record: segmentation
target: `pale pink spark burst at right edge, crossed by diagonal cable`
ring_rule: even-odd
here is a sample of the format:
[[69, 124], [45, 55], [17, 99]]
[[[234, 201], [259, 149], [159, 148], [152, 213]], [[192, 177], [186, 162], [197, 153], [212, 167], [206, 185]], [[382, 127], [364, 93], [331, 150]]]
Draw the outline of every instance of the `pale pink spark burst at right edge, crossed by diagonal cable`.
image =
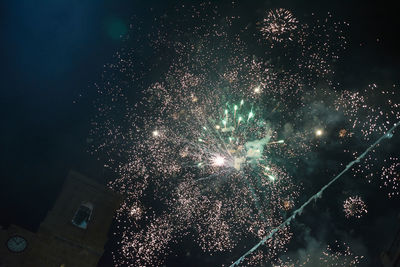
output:
[[[393, 88], [395, 87], [393, 85]], [[377, 101], [377, 99], [381, 101]], [[393, 122], [400, 119], [400, 105], [396, 102], [397, 99], [396, 91], [382, 90], [376, 84], [371, 84], [358, 92], [344, 91], [340, 93], [339, 98], [335, 100], [335, 106], [338, 111], [346, 115], [352, 131], [361, 133], [358, 138], [370, 141], [371, 137], [384, 133]], [[363, 120], [360, 120], [360, 117]], [[354, 132], [347, 136], [352, 137]], [[343, 137], [346, 136], [344, 132], [342, 133]], [[340, 133], [339, 136], [342, 137]], [[358, 154], [351, 147], [348, 147], [345, 152], [354, 157]], [[369, 183], [380, 178], [378, 180], [381, 182], [380, 188], [390, 191], [388, 192], [389, 198], [398, 195], [400, 192], [397, 186], [397, 158], [390, 157], [382, 162], [376, 154], [376, 150], [372, 152], [365, 157], [362, 164], [352, 169], [354, 176], [364, 177]]]

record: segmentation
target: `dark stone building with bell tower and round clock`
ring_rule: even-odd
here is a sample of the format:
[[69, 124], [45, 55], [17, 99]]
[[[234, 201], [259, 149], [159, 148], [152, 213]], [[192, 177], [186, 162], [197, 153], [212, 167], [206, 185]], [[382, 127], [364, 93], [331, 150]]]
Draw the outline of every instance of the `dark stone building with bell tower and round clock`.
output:
[[15, 225], [0, 230], [0, 266], [96, 266], [120, 202], [120, 195], [71, 171], [36, 233]]

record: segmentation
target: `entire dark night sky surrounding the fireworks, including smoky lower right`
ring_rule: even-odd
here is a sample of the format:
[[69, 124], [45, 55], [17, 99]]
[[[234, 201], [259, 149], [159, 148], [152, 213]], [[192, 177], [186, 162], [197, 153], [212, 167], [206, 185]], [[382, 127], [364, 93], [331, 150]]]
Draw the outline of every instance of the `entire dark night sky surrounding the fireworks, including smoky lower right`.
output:
[[[335, 81], [344, 88], [365, 88], [371, 83], [382, 87], [399, 85], [400, 22], [394, 4], [383, 1], [237, 2], [241, 16], [249, 20], [254, 14], [259, 16], [263, 10], [276, 7], [302, 15], [330, 11], [335, 19], [350, 23], [348, 49], [338, 60]], [[177, 3], [182, 1], [0, 3], [1, 225], [17, 224], [36, 230], [70, 169], [100, 182], [110, 179], [112, 175], [103, 168], [103, 162], [88, 153], [91, 121], [97, 112], [93, 104], [98, 97], [94, 84], [101, 84], [104, 65], [112, 62], [119, 49], [135, 45], [124, 41], [132, 20], [140, 21], [141, 32], [146, 33], [154, 17], [174, 9]], [[146, 49], [142, 53], [146, 54]], [[142, 88], [130, 87], [130, 101], [138, 102]], [[391, 156], [400, 156], [398, 133], [388, 143], [383, 150]], [[335, 164], [341, 154], [327, 151], [323, 153], [326, 165], [312, 171], [313, 181], [317, 181], [309, 187], [312, 192], [331, 177], [323, 177], [324, 174], [342, 169]], [[379, 153], [387, 157], [384, 152]], [[325, 167], [329, 171], [322, 169]], [[335, 240], [335, 235], [356, 254], [366, 257], [360, 266], [379, 266], [379, 254], [390, 244], [399, 224], [400, 201], [399, 197], [388, 200], [386, 192], [377, 188], [351, 181], [333, 186], [299, 217], [294, 226], [297, 236], [289, 244], [287, 255], [296, 258], [301, 250], [316, 251], [321, 244]], [[356, 190], [369, 204], [368, 216], [361, 223], [337, 218], [343, 217], [337, 211], [344, 200], [339, 197], [340, 192], [346, 190]], [[193, 250], [187, 256], [191, 247]], [[99, 266], [113, 266], [113, 249], [113, 244], [107, 245]], [[167, 266], [215, 263], [215, 258], [202, 254], [189, 242], [174, 248], [171, 255]], [[217, 256], [217, 265], [230, 263], [240, 255], [235, 251], [228, 258]]]

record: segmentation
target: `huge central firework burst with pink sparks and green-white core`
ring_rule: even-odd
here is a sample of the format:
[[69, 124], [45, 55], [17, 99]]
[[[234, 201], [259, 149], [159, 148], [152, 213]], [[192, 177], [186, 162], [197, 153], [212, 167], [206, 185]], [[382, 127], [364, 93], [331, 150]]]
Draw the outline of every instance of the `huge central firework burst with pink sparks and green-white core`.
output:
[[[318, 110], [357, 125], [352, 109], [363, 108], [362, 96], [332, 100], [339, 93], [330, 74], [346, 43], [345, 24], [306, 25], [288, 10], [269, 11], [258, 42], [266, 52], [257, 54], [243, 29], [231, 28], [240, 18], [208, 5], [158, 18], [146, 35], [153, 65], [141, 61], [139, 42], [139, 52], [117, 53], [97, 85], [92, 153], [105, 158], [117, 176], [110, 187], [126, 196], [117, 215], [116, 265], [161, 265], [171, 244], [187, 236], [213, 254], [274, 235], [249, 264], [276, 258], [292, 238], [281, 225], [302, 192], [289, 170], [329, 134]], [[276, 55], [265, 38], [296, 49]], [[143, 88], [138, 103], [129, 97], [132, 84]]]

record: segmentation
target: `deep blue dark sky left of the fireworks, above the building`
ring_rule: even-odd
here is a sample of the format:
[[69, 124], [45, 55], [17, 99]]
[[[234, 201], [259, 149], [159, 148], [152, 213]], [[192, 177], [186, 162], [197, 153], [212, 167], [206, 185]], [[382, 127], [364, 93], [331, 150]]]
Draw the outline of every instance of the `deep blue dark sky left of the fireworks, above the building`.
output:
[[93, 83], [120, 46], [115, 31], [147, 12], [130, 2], [2, 4], [2, 222], [35, 227], [69, 169], [101, 174], [86, 154]]

